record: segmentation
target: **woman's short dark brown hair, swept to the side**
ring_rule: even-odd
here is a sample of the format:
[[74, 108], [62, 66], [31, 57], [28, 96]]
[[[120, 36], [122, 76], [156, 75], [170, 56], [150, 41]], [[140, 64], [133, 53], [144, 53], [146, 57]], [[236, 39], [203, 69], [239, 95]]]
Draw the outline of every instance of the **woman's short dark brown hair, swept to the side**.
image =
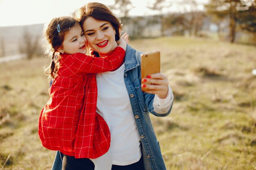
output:
[[99, 21], [110, 22], [116, 31], [115, 40], [117, 41], [120, 39], [119, 31], [122, 30], [121, 21], [115, 16], [114, 13], [110, 11], [106, 5], [99, 2], [90, 2], [74, 12], [74, 18], [78, 20], [81, 25], [83, 25], [83, 22], [88, 17], [92, 17]]

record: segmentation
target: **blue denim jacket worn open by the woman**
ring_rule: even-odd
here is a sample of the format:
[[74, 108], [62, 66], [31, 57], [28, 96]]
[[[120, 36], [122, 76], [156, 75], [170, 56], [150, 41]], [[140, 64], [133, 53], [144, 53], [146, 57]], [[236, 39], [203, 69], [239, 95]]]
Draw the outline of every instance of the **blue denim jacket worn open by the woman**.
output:
[[[167, 113], [156, 113], [153, 108], [153, 99], [155, 95], [141, 91], [141, 53], [142, 52], [136, 51], [131, 46], [127, 45], [124, 61], [124, 82], [130, 96], [132, 112], [141, 140], [141, 152], [144, 159], [145, 170], [166, 170], [155, 131], [153, 130], [150, 121], [149, 113], [158, 117], [164, 117], [171, 112], [172, 107]], [[61, 170], [61, 159], [58, 152], [52, 170]]]

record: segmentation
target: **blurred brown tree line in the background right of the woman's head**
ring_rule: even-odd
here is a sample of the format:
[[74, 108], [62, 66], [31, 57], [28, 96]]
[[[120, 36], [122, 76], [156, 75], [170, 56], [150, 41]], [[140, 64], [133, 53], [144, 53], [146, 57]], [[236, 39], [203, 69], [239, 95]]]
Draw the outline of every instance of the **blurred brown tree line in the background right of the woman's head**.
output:
[[[163, 12], [174, 3], [180, 7], [180, 12]], [[199, 8], [200, 5], [202, 4], [197, 0], [154, 0], [148, 9], [157, 11], [158, 14], [150, 17], [129, 17], [129, 11], [133, 8], [130, 0], [115, 0], [115, 5], [110, 8], [119, 11], [125, 26], [132, 25], [131, 38], [143, 38], [146, 28], [154, 25], [160, 26], [159, 36], [207, 36], [200, 31], [208, 20], [216, 24], [219, 33], [223, 31], [221, 24], [228, 23], [227, 36], [231, 43], [235, 41], [238, 32], [252, 33], [256, 42], [256, 0], [209, 0], [204, 4], [203, 11]], [[148, 30], [147, 37], [150, 37], [150, 31], [152, 32]]]

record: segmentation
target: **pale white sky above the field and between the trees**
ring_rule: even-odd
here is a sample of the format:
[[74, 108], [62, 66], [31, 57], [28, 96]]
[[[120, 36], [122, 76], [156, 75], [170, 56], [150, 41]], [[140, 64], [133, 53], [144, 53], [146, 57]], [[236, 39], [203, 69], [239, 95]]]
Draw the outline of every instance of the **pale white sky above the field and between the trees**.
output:
[[[157, 13], [147, 8], [154, 0], [130, 1], [134, 6], [130, 15]], [[115, 0], [0, 0], [0, 26], [47, 23], [54, 17], [70, 15], [88, 2], [101, 2], [108, 6], [113, 5]], [[178, 9], [174, 5], [171, 8], [165, 9], [165, 12]], [[118, 16], [117, 13], [115, 14]]]

